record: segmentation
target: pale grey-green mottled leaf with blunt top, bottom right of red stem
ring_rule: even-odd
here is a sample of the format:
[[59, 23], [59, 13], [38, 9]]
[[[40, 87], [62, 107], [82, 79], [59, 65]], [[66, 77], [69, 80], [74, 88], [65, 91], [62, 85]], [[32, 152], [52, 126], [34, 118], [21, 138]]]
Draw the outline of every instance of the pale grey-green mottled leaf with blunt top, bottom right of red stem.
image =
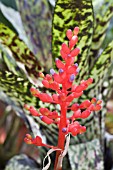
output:
[[79, 143], [76, 146], [70, 145], [68, 154], [71, 170], [88, 170], [89, 167], [92, 170], [103, 170], [103, 155], [98, 139], [87, 141], [87, 143]]

